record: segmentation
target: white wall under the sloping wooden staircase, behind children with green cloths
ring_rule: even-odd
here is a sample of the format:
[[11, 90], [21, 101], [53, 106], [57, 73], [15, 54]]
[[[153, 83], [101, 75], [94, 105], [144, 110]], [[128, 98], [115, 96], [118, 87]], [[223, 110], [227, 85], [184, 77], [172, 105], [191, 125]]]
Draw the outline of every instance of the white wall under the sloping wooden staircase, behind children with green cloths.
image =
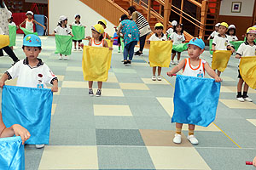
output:
[[[75, 14], [80, 14], [80, 21], [86, 26], [85, 36], [91, 35], [90, 27], [96, 25], [98, 20], [105, 19], [79, 0], [49, 0], [49, 34], [53, 33], [61, 15], [67, 16], [69, 25], [73, 23]], [[108, 20], [105, 31], [113, 37], [113, 24]]]

